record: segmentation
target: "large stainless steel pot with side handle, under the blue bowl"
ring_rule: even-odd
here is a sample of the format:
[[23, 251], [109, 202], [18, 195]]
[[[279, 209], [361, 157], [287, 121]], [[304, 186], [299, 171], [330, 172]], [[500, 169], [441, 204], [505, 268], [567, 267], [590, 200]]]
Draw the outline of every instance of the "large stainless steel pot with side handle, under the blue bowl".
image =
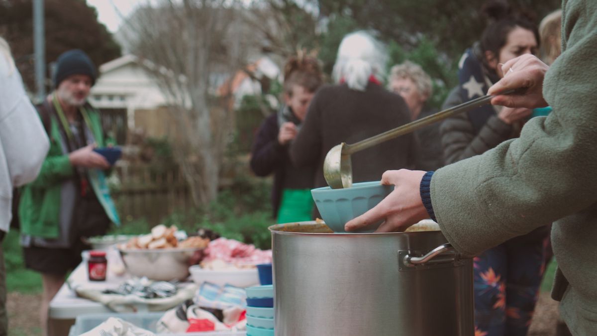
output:
[[277, 336], [474, 335], [472, 259], [441, 231], [269, 229]]

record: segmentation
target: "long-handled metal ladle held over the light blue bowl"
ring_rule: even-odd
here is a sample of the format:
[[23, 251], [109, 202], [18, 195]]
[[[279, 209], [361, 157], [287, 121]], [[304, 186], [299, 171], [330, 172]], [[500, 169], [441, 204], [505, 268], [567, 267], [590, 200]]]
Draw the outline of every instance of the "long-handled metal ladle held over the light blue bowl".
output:
[[[500, 94], [510, 94], [513, 92], [514, 90], [509, 90]], [[445, 109], [444, 111], [437, 112], [436, 114], [429, 115], [376, 136], [372, 136], [371, 138], [353, 143], [352, 145], [348, 145], [343, 142], [340, 143], [340, 145], [333, 146], [332, 149], [328, 151], [328, 154], [325, 155], [325, 181], [328, 182], [328, 185], [330, 185], [332, 189], [350, 188], [352, 186], [352, 163], [350, 161], [351, 154], [378, 145], [382, 142], [386, 142], [387, 140], [398, 138], [401, 135], [411, 133], [429, 124], [433, 124], [436, 121], [444, 120], [452, 115], [478, 108], [479, 106], [489, 103], [493, 97], [494, 96], [487, 95], [470, 100], [469, 102], [454, 106], [453, 108]]]

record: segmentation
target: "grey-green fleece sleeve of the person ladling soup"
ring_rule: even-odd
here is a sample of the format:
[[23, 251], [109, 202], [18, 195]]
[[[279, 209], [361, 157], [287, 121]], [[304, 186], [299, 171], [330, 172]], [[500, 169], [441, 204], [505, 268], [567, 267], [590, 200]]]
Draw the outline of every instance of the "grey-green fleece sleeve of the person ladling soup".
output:
[[433, 210], [458, 251], [475, 255], [597, 202], [597, 14], [594, 3], [583, 10], [589, 3], [565, 16], [568, 48], [544, 78], [552, 113], [433, 175]]

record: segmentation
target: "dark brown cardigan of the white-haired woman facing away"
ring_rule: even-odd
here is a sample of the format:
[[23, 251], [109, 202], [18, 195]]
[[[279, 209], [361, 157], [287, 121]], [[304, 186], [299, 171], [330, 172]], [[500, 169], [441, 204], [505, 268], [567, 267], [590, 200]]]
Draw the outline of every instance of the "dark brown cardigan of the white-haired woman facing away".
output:
[[[402, 97], [380, 85], [369, 83], [364, 92], [351, 90], [346, 84], [325, 85], [313, 97], [290, 156], [297, 166], [316, 164], [315, 187], [324, 187], [322, 167], [333, 146], [355, 143], [409, 121]], [[412, 168], [416, 152], [417, 141], [411, 134], [355, 153], [353, 182], [379, 181], [386, 170]]]

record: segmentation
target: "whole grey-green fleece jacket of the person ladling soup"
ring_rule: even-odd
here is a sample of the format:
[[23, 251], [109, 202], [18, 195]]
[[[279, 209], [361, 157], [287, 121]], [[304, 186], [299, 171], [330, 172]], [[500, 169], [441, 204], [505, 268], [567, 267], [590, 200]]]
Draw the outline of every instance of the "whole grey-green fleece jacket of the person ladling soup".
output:
[[430, 191], [448, 241], [475, 255], [554, 222], [552, 295], [574, 335], [597, 332], [597, 1], [564, 0], [562, 54], [543, 83], [553, 111], [520, 138], [439, 169]]

